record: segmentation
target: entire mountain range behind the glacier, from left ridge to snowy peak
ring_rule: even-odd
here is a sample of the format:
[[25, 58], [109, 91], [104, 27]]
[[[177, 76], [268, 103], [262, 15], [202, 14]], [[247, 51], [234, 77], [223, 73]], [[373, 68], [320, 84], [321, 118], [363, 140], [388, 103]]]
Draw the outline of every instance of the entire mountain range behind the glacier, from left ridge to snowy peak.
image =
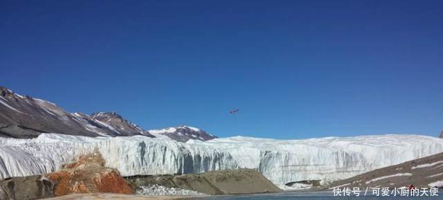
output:
[[0, 137], [35, 138], [42, 133], [74, 136], [168, 136], [174, 140], [211, 140], [217, 138], [188, 126], [144, 130], [116, 112], [69, 113], [56, 104], [21, 96], [0, 87]]

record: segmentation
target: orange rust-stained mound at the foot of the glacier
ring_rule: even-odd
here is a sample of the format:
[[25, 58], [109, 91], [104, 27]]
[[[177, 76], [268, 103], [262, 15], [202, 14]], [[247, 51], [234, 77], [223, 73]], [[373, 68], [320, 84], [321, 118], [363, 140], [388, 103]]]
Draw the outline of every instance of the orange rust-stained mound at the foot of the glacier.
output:
[[105, 167], [105, 160], [98, 153], [80, 156], [77, 162], [64, 165], [62, 170], [46, 177], [56, 182], [55, 196], [91, 192], [134, 194], [118, 170]]

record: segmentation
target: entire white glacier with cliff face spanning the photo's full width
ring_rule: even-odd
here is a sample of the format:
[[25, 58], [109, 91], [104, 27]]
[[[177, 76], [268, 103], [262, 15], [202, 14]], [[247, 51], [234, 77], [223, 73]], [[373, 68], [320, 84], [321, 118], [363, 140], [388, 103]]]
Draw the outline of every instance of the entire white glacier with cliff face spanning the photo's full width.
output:
[[188, 140], [166, 136], [96, 137], [42, 134], [0, 138], [0, 178], [60, 169], [80, 154], [98, 151], [123, 176], [186, 174], [239, 167], [257, 169], [276, 185], [332, 181], [443, 152], [443, 140], [379, 135], [273, 140], [232, 137]]

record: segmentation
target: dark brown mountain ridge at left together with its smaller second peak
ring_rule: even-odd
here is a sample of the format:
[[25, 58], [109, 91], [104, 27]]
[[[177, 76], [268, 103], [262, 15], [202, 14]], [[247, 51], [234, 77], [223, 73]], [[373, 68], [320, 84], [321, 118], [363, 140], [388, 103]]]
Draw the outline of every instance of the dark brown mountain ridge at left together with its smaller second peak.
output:
[[52, 102], [21, 96], [0, 87], [0, 136], [3, 137], [34, 138], [41, 133], [80, 136], [144, 134], [121, 116], [120, 119], [120, 123], [105, 123], [84, 113], [69, 113]]

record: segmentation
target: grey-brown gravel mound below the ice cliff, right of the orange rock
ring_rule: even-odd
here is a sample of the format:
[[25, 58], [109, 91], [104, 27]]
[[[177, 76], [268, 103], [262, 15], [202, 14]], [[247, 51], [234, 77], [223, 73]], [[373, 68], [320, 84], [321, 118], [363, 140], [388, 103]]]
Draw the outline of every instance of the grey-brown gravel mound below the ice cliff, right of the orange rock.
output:
[[135, 186], [162, 185], [204, 194], [252, 194], [281, 192], [280, 188], [255, 170], [219, 170], [202, 174], [132, 176], [127, 180]]

